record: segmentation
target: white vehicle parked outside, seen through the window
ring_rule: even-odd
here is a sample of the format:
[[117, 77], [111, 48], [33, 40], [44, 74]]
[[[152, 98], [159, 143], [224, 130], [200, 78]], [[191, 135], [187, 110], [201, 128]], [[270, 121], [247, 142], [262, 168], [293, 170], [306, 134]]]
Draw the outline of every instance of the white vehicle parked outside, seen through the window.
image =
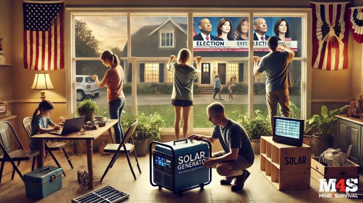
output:
[[96, 82], [93, 80], [92, 76], [85, 75], [76, 75], [76, 83], [77, 83], [77, 101], [84, 100], [87, 96], [98, 97], [99, 88]]

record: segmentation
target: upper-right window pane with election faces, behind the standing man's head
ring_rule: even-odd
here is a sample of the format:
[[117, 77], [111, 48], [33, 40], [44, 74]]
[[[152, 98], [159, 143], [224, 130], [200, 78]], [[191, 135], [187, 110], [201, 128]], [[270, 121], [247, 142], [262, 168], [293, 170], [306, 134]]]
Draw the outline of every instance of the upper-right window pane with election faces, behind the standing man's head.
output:
[[285, 43], [295, 51], [295, 57], [301, 57], [301, 18], [255, 17], [254, 26], [254, 55], [264, 56], [269, 53], [267, 39], [277, 36], [279, 43]]

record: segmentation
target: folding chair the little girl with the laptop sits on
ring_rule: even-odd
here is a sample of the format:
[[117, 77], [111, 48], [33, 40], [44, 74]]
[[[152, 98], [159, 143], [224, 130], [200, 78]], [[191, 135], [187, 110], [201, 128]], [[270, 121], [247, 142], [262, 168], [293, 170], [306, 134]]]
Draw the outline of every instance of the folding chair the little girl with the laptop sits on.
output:
[[[23, 127], [25, 129], [25, 132], [28, 134], [29, 140], [31, 138], [31, 131], [32, 131], [31, 121], [32, 121], [31, 117], [26, 117], [23, 119]], [[71, 159], [68, 157], [68, 154], [65, 150], [65, 146], [66, 146], [66, 143], [64, 143], [64, 142], [45, 142], [44, 147], [45, 147], [46, 154], [45, 154], [44, 160], [45, 160], [47, 154], [49, 154], [52, 157], [52, 159], [54, 160], [55, 164], [59, 168], [62, 168], [61, 164], [59, 164], [58, 160], [56, 160], [53, 153], [51, 152], [51, 151], [61, 150], [63, 152], [63, 154], [66, 156], [66, 159], [67, 159], [66, 161], [68, 161], [69, 165], [73, 169]], [[63, 170], [63, 175], [66, 176], [66, 173], [64, 172], [64, 170]]]

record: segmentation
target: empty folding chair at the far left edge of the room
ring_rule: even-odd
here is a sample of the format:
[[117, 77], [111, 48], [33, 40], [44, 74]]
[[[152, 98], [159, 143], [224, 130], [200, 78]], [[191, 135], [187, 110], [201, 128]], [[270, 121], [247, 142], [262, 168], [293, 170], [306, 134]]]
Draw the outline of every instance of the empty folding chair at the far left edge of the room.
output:
[[[19, 149], [12, 149], [11, 148], [11, 140], [10, 140], [10, 134], [14, 134], [15, 140], [19, 146]], [[22, 143], [19, 140], [18, 135], [16, 134], [13, 126], [8, 121], [1, 121], [0, 122], [0, 148], [3, 151], [3, 155], [0, 156], [1, 161], [1, 167], [0, 167], [0, 183], [1, 179], [3, 177], [3, 170], [4, 170], [4, 164], [5, 162], [11, 162], [13, 165], [13, 169], [6, 173], [5, 175], [13, 172], [12, 174], [12, 180], [14, 179], [15, 171], [19, 174], [21, 179], [23, 180], [23, 175], [21, 174], [20, 170], [18, 169], [17, 165], [15, 164], [16, 161], [18, 161], [18, 166], [20, 165], [21, 161], [27, 161], [33, 158], [32, 163], [32, 170], [34, 170], [35, 160], [36, 156], [39, 155], [39, 151], [37, 150], [24, 150], [24, 147]], [[26, 167], [27, 169], [29, 167]], [[23, 169], [23, 170], [25, 170]]]

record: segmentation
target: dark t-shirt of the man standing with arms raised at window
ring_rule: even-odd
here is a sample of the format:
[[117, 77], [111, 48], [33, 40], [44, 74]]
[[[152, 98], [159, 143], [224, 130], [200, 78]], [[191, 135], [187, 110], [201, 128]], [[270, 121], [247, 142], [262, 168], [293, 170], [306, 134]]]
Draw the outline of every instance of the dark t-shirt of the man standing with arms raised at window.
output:
[[266, 92], [291, 87], [287, 64], [292, 60], [292, 53], [276, 51], [262, 57], [257, 71], [266, 71]]

